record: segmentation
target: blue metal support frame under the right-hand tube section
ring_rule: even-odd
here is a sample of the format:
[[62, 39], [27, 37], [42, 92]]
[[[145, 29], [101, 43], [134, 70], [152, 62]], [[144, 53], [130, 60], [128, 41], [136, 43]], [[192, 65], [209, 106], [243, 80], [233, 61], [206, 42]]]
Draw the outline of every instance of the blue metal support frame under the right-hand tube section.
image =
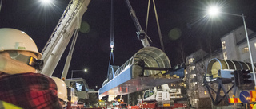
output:
[[[214, 103], [214, 105], [218, 105], [219, 103], [222, 102], [222, 100], [224, 100], [227, 104], [231, 104], [229, 103], [229, 95], [228, 93], [232, 90], [232, 88], [234, 88], [235, 84], [232, 85], [232, 87], [228, 90], [226, 90], [226, 88], [224, 87], [222, 80], [220, 78], [217, 78], [214, 81], [210, 81], [207, 82], [206, 78], [204, 78], [203, 80], [204, 85], [206, 86], [206, 89], [210, 95], [210, 99], [212, 100], [212, 102]], [[211, 88], [210, 85], [208, 83], [218, 83], [218, 89], [217, 91], [214, 90], [214, 88]], [[235, 95], [235, 90], [236, 88], [234, 88], [234, 95]], [[221, 90], [224, 92], [224, 95], [220, 95]], [[212, 92], [214, 92], [216, 94], [216, 96], [212, 95]]]

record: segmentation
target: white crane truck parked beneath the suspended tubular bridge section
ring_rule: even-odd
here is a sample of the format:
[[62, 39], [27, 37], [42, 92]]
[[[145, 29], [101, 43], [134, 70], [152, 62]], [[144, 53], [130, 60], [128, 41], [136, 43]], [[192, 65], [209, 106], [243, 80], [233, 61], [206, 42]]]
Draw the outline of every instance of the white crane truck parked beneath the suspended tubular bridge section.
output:
[[[178, 64], [177, 66], [174, 67], [172, 71], [166, 73], [175, 78], [183, 78], [185, 64]], [[170, 88], [169, 84], [162, 84], [159, 87], [154, 87], [143, 91], [142, 99], [138, 99], [138, 104], [136, 106], [130, 106], [129, 108], [185, 109], [186, 103], [176, 103], [175, 101], [175, 99], [182, 98], [182, 88]]]

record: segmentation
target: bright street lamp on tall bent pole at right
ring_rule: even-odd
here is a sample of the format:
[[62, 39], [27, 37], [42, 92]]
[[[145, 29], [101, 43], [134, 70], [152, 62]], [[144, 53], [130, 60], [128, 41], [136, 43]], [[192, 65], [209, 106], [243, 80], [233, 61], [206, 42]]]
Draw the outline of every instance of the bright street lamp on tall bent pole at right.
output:
[[245, 27], [245, 32], [246, 32], [246, 40], [247, 40], [247, 45], [248, 45], [248, 49], [249, 49], [249, 55], [250, 55], [250, 64], [251, 64], [251, 68], [253, 69], [253, 75], [254, 75], [254, 84], [255, 84], [255, 90], [256, 90], [256, 80], [255, 80], [255, 72], [254, 72], [254, 61], [253, 61], [253, 57], [251, 55], [251, 51], [250, 51], [250, 42], [249, 42], [249, 37], [248, 37], [248, 33], [247, 33], [247, 28], [246, 28], [246, 20], [245, 20], [245, 16], [239, 15], [239, 14], [230, 14], [230, 13], [225, 13], [225, 12], [219, 12], [218, 7], [210, 7], [208, 9], [208, 14], [210, 16], [212, 15], [217, 15], [217, 14], [228, 14], [228, 15], [233, 15], [233, 16], [237, 16], [237, 17], [242, 17], [242, 21], [243, 21], [243, 25]]

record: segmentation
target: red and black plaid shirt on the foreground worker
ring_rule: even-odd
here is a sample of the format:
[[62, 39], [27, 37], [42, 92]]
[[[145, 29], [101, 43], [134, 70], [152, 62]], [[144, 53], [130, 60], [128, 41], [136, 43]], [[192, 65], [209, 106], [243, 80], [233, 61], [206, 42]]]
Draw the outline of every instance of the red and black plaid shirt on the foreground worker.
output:
[[39, 73], [0, 77], [0, 100], [25, 109], [62, 109], [54, 80]]

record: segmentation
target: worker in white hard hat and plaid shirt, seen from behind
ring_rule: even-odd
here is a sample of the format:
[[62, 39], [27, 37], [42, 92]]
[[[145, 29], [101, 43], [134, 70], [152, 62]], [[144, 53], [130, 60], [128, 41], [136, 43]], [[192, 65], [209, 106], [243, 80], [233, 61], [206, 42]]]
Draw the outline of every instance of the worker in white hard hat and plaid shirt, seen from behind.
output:
[[34, 41], [18, 29], [0, 29], [0, 101], [25, 109], [62, 109], [57, 86], [42, 68]]

